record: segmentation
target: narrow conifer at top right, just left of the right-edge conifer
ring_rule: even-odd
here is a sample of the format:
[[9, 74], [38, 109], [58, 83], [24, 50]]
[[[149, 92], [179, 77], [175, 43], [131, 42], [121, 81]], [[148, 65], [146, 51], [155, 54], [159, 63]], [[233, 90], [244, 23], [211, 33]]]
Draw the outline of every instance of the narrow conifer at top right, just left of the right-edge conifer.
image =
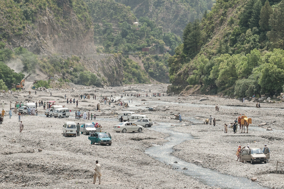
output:
[[271, 14], [272, 14], [272, 7], [269, 5], [269, 2], [266, 1], [260, 11], [259, 26], [262, 31], [268, 32], [270, 30], [269, 18]]

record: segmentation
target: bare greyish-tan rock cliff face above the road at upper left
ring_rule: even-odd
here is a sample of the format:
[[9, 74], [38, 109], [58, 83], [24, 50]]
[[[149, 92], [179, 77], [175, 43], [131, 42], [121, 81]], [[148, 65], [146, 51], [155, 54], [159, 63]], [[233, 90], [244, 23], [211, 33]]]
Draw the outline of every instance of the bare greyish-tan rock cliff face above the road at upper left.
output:
[[38, 11], [34, 25], [26, 26], [23, 35], [8, 39], [11, 46], [22, 46], [38, 55], [94, 54], [92, 24], [80, 21], [68, 0], [60, 1], [60, 9], [61, 18], [49, 7]]

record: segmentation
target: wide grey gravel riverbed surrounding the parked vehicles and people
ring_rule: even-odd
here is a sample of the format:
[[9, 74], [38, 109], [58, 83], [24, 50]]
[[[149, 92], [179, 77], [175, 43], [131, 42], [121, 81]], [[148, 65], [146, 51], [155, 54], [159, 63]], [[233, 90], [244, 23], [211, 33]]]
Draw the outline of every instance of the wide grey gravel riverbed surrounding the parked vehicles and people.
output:
[[[99, 160], [102, 167], [102, 185], [99, 188], [218, 188], [207, 186], [196, 178], [186, 176], [175, 171], [170, 165], [162, 163], [146, 155], [145, 149], [152, 145], [163, 145], [168, 134], [145, 128], [138, 133], [116, 133], [112, 131], [118, 123], [116, 114], [121, 111], [142, 113], [153, 122], [166, 122], [175, 125], [175, 114], [181, 113], [184, 121], [173, 130], [190, 133], [195, 138], [174, 147], [172, 153], [185, 161], [198, 160], [203, 167], [218, 172], [242, 176], [257, 177], [262, 186], [269, 188], [283, 188], [283, 175], [276, 175], [277, 160], [283, 161], [283, 115], [281, 102], [261, 103], [262, 108], [256, 109], [253, 102], [236, 99], [225, 99], [217, 96], [189, 95], [166, 96], [165, 84], [131, 85], [124, 87], [87, 88], [73, 85], [72, 89], [49, 89], [37, 91], [37, 95], [28, 95], [27, 91], [14, 92], [12, 95], [1, 94], [4, 101], [6, 116], [0, 125], [0, 188], [93, 188], [92, 176], [95, 160]], [[145, 97], [146, 92], [161, 92], [165, 96]], [[96, 90], [96, 92], [95, 92]], [[50, 96], [52, 92], [52, 96]], [[116, 93], [114, 93], [116, 92]], [[119, 100], [121, 94], [138, 93], [140, 97], [123, 95], [122, 100], [130, 101], [129, 108], [122, 108], [115, 103], [105, 105], [101, 103], [101, 95]], [[67, 98], [78, 99], [79, 94], [94, 94], [97, 99], [79, 99], [78, 108], [68, 105], [71, 110], [69, 118], [47, 118], [43, 115], [43, 107], [38, 107], [38, 116], [22, 116], [23, 132], [19, 132], [18, 116], [13, 113], [8, 116], [9, 102], [12, 107], [15, 101], [56, 101], [65, 105]], [[3, 100], [2, 100], [3, 99]], [[132, 99], [132, 103], [131, 103]], [[146, 101], [141, 101], [145, 99]], [[205, 99], [200, 101], [201, 99]], [[100, 103], [101, 111], [96, 111]], [[215, 104], [220, 110], [215, 111]], [[149, 111], [153, 107], [156, 111]], [[112, 146], [91, 145], [87, 136], [64, 137], [62, 125], [66, 121], [84, 123], [91, 120], [75, 120], [75, 111], [90, 109], [97, 115], [103, 131], [112, 135]], [[115, 111], [115, 112], [114, 112]], [[248, 134], [233, 134], [232, 129], [224, 133], [224, 123], [233, 122], [239, 114], [245, 113], [252, 118], [252, 126]], [[101, 116], [100, 116], [101, 115]], [[212, 117], [220, 120], [217, 126], [202, 123], [204, 119]], [[197, 118], [193, 120], [192, 118]], [[258, 127], [260, 123], [263, 126]], [[264, 124], [265, 123], [265, 124]], [[155, 124], [155, 123], [154, 123]], [[267, 131], [272, 128], [272, 131]], [[240, 163], [236, 159], [238, 145], [250, 145], [263, 148], [268, 144], [271, 151], [269, 163], [253, 164]], [[173, 162], [174, 163], [174, 162]], [[195, 162], [196, 163], [196, 162]]]

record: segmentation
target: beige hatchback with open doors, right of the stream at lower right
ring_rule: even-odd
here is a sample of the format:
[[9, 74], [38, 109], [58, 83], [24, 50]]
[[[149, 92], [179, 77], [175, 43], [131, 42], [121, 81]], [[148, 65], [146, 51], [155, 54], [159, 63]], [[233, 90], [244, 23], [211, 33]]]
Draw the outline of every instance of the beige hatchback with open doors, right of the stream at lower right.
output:
[[241, 150], [241, 160], [250, 161], [251, 164], [255, 162], [264, 162], [270, 159], [270, 153], [264, 154], [260, 148], [249, 148], [249, 153], [244, 149]]

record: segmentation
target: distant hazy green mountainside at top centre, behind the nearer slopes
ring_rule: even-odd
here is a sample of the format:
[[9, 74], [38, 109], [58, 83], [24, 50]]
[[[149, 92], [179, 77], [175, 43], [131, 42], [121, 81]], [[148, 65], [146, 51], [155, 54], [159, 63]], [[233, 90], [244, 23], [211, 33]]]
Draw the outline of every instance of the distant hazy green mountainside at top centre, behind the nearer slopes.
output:
[[[131, 10], [137, 18], [148, 17], [162, 26], [164, 31], [178, 36], [188, 22], [201, 19], [202, 14], [211, 10], [215, 0], [116, 0]], [[139, 20], [140, 21], [140, 20]]]

